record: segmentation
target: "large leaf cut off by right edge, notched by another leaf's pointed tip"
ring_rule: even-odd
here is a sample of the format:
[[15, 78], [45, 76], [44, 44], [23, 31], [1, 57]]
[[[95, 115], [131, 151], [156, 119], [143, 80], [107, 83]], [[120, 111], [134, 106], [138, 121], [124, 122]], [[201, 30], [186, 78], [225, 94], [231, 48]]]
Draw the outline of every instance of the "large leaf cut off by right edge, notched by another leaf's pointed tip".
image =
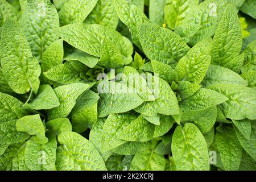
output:
[[230, 119], [256, 119], [256, 90], [241, 85], [215, 84], [208, 86], [228, 97], [220, 108], [226, 118]]

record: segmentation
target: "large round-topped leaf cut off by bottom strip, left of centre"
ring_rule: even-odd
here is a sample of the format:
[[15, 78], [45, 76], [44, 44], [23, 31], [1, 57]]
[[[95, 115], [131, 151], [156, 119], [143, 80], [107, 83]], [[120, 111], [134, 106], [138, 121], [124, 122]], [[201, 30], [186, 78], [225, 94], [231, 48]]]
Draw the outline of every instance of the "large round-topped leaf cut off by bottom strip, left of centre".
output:
[[81, 135], [64, 131], [59, 134], [57, 147], [56, 169], [58, 171], [95, 171], [106, 170], [100, 154], [89, 140]]

